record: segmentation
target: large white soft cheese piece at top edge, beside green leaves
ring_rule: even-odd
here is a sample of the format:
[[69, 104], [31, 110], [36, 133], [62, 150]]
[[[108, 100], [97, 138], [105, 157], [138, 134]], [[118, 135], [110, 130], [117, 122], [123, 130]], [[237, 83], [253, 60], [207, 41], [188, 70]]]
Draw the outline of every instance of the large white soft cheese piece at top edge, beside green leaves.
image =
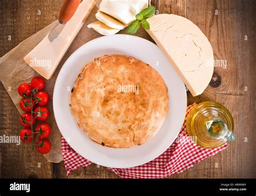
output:
[[136, 15], [149, 5], [148, 0], [102, 0], [99, 11], [116, 18], [125, 25], [136, 20]]

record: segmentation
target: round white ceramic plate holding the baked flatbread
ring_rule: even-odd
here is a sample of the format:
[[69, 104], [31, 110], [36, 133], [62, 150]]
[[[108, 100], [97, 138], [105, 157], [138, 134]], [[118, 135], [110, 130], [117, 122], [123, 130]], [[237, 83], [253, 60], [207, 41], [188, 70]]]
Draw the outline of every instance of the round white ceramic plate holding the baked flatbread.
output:
[[[166, 120], [150, 141], [129, 149], [113, 149], [92, 142], [79, 129], [71, 115], [70, 90], [86, 62], [106, 54], [125, 54], [151, 65], [163, 77], [169, 95]], [[157, 45], [146, 39], [116, 34], [93, 39], [76, 50], [59, 72], [53, 92], [53, 111], [63, 137], [69, 145], [93, 163], [115, 168], [142, 165], [158, 157], [177, 137], [186, 113], [186, 89], [183, 81]]]

